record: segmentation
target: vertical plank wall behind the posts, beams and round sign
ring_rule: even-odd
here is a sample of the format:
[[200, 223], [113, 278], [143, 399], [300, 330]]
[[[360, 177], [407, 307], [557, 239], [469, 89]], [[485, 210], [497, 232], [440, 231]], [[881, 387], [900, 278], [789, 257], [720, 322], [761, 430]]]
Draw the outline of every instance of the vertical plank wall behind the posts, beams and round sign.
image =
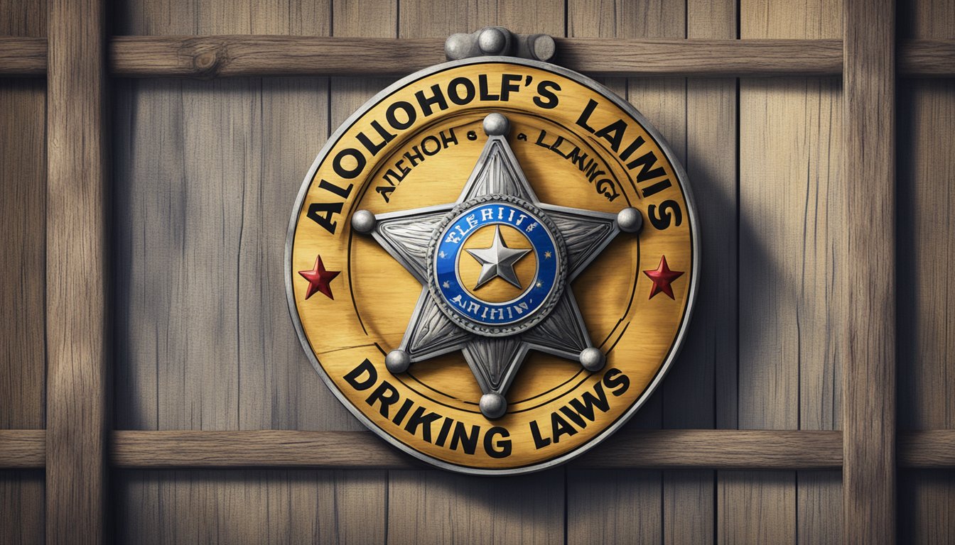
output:
[[[0, 0], [0, 34], [45, 2]], [[902, 37], [955, 37], [945, 0]], [[114, 34], [839, 38], [838, 0], [117, 0]], [[112, 89], [114, 421], [119, 430], [361, 430], [287, 316], [288, 214], [325, 138], [391, 80], [117, 79]], [[605, 81], [688, 168], [700, 302], [680, 360], [625, 430], [834, 430], [845, 358], [838, 78]], [[899, 108], [899, 424], [955, 428], [955, 84]], [[0, 79], [0, 428], [44, 427], [45, 85]], [[8, 145], [12, 142], [13, 145]], [[851, 213], [851, 212], [849, 212]], [[559, 468], [119, 471], [119, 543], [831, 543], [839, 472]], [[900, 474], [902, 541], [955, 542], [955, 473]], [[0, 543], [43, 539], [43, 472], [0, 472]]]

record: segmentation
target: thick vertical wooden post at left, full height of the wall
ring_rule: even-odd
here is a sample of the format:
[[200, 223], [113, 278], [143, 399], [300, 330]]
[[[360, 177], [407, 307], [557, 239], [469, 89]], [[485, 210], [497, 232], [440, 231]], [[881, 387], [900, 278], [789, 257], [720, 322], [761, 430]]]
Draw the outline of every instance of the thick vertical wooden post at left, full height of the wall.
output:
[[105, 12], [51, 0], [47, 74], [47, 542], [105, 538]]

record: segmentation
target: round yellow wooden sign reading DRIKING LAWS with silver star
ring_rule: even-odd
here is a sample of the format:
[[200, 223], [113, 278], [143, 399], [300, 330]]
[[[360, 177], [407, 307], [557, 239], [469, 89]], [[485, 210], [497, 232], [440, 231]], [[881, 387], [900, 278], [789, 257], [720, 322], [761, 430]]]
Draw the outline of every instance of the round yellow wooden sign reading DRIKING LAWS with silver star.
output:
[[455, 61], [329, 138], [289, 224], [288, 304], [369, 429], [448, 470], [538, 471], [662, 380], [697, 228], [683, 168], [626, 101], [546, 63]]

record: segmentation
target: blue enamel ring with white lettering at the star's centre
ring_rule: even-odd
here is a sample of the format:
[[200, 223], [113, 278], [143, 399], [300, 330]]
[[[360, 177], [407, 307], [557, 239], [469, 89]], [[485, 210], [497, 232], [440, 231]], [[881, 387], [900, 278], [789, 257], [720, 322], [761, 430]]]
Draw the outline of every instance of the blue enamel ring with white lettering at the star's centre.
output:
[[[465, 242], [486, 225], [507, 225], [530, 241], [532, 252], [524, 259], [537, 261], [537, 273], [518, 297], [503, 303], [483, 301], [465, 286], [457, 266]], [[548, 301], [560, 282], [562, 263], [559, 242], [537, 214], [508, 201], [477, 204], [452, 219], [442, 230], [433, 256], [435, 287], [456, 314], [480, 325], [517, 324], [533, 316]]]

